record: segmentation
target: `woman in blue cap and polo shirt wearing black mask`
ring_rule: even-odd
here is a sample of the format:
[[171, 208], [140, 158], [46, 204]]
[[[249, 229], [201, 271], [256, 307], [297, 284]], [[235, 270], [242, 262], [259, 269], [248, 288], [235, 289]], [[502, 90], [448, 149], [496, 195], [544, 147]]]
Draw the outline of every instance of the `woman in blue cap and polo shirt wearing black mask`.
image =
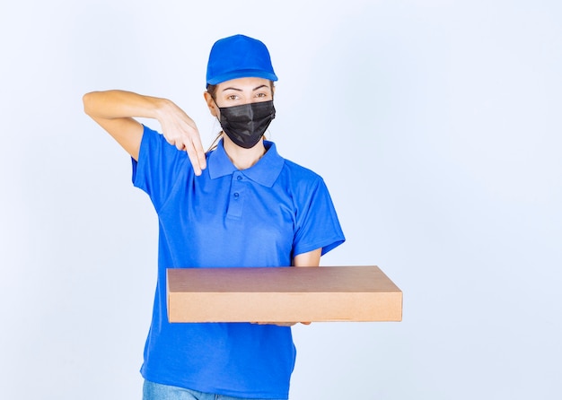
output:
[[[318, 266], [345, 240], [321, 177], [263, 139], [275, 117], [274, 81], [259, 40], [235, 35], [215, 43], [204, 96], [224, 135], [207, 153], [195, 123], [170, 100], [84, 95], [85, 112], [133, 158], [133, 182], [159, 217], [145, 400], [288, 397], [293, 323], [170, 324], [166, 315], [166, 268]], [[156, 118], [163, 135], [134, 117]]]

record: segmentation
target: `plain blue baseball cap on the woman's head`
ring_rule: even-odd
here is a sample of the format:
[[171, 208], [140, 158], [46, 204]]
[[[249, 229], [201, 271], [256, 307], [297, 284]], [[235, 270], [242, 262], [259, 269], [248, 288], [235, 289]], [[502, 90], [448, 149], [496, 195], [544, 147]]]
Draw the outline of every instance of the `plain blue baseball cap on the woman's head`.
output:
[[237, 78], [277, 81], [268, 48], [258, 39], [234, 35], [217, 40], [211, 48], [206, 65], [206, 84], [218, 84]]

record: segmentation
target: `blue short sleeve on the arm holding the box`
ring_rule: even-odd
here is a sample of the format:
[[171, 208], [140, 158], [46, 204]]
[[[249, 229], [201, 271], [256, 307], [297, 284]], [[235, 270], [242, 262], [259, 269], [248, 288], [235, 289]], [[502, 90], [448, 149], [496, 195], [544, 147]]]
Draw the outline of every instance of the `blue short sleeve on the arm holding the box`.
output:
[[294, 256], [322, 248], [322, 256], [346, 239], [328, 187], [321, 177], [308, 187], [299, 205], [294, 235]]

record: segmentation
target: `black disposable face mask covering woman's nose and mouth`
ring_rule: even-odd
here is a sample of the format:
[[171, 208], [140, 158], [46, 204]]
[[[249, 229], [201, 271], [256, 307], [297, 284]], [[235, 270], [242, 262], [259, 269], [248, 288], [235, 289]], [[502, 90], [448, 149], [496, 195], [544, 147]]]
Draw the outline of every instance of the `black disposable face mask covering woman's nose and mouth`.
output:
[[244, 149], [255, 146], [275, 118], [273, 100], [219, 109], [224, 133]]

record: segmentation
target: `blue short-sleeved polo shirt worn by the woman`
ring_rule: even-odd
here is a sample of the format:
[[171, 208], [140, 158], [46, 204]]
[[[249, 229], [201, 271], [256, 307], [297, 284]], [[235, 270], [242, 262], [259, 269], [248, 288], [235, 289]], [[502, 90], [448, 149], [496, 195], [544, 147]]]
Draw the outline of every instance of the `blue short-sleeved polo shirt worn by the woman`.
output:
[[345, 239], [320, 176], [283, 159], [274, 143], [237, 170], [222, 141], [193, 172], [186, 152], [145, 126], [133, 182], [159, 220], [158, 281], [143, 377], [165, 385], [247, 398], [287, 398], [294, 368], [291, 328], [170, 324], [166, 268], [289, 266], [294, 256]]

